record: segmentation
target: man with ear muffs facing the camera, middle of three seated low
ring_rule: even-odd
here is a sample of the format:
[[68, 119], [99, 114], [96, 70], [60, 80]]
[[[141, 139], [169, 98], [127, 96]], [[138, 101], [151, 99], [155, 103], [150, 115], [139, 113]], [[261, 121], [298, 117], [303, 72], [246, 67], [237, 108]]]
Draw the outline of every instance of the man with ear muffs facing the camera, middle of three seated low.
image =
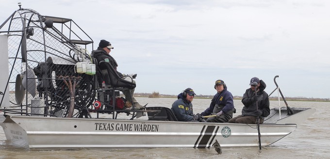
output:
[[229, 119], [232, 118], [232, 114], [236, 113], [231, 92], [227, 90], [227, 86], [223, 80], [216, 80], [214, 89], [216, 89], [217, 92], [211, 101], [210, 107], [208, 107], [200, 115], [216, 115], [209, 117], [206, 120], [207, 122], [228, 122]]

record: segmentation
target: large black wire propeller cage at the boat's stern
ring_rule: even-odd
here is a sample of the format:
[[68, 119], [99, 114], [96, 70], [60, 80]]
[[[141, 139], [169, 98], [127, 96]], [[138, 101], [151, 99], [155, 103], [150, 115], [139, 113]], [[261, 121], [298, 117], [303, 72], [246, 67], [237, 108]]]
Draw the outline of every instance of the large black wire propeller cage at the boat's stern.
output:
[[8, 46], [0, 49], [1, 55], [8, 54], [8, 67], [1, 72], [9, 70], [0, 84], [5, 95], [1, 108], [66, 117], [71, 104], [78, 111], [93, 107], [95, 75], [75, 72], [77, 62], [95, 63], [86, 51], [93, 49], [93, 41], [72, 19], [19, 9], [0, 26], [0, 43]]

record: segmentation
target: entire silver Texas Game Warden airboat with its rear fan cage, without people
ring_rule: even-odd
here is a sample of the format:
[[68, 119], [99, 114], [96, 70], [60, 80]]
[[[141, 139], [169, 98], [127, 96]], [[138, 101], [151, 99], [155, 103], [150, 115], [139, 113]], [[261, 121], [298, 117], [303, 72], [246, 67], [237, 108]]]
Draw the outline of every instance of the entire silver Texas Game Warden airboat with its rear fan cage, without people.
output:
[[[286, 107], [271, 109], [260, 125], [259, 144], [256, 125], [180, 122], [166, 107], [118, 108], [119, 91], [135, 84], [111, 65], [103, 63], [107, 69], [100, 70], [101, 62], [88, 52], [92, 49], [93, 40], [72, 19], [41, 15], [20, 4], [1, 24], [0, 125], [7, 144], [28, 149], [210, 148], [217, 140], [222, 147], [267, 146], [315, 112], [286, 102]], [[103, 87], [100, 76], [109, 77]], [[120, 119], [119, 113], [130, 118]], [[146, 114], [148, 119], [139, 118]]]

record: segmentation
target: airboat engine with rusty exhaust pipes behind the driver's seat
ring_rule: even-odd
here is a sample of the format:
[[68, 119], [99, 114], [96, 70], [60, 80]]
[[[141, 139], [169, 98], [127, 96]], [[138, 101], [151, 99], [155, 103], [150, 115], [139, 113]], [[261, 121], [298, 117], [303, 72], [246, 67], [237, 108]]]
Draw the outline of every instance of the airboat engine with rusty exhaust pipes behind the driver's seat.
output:
[[95, 97], [93, 74], [82, 72], [88, 63], [88, 59], [75, 62], [71, 58], [48, 57], [33, 69], [38, 77], [37, 91], [53, 108], [50, 114], [63, 116], [69, 105], [77, 110], [91, 105]]

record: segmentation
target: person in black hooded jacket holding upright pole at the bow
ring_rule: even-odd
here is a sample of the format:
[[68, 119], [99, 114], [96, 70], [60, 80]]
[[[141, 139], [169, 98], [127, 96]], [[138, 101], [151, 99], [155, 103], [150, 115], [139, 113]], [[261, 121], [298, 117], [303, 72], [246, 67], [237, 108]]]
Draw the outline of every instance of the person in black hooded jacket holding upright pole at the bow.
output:
[[[256, 82], [257, 94], [255, 94], [255, 86], [253, 83]], [[264, 91], [266, 84], [263, 80], [259, 80], [257, 77], [253, 77], [250, 80], [250, 88], [248, 88], [242, 99], [244, 107], [242, 109], [242, 115], [236, 116], [229, 120], [229, 123], [240, 123], [240, 124], [256, 124], [257, 116], [260, 118], [260, 124], [264, 123], [264, 118], [270, 113], [268, 94]], [[258, 110], [257, 110], [258, 102]]]

